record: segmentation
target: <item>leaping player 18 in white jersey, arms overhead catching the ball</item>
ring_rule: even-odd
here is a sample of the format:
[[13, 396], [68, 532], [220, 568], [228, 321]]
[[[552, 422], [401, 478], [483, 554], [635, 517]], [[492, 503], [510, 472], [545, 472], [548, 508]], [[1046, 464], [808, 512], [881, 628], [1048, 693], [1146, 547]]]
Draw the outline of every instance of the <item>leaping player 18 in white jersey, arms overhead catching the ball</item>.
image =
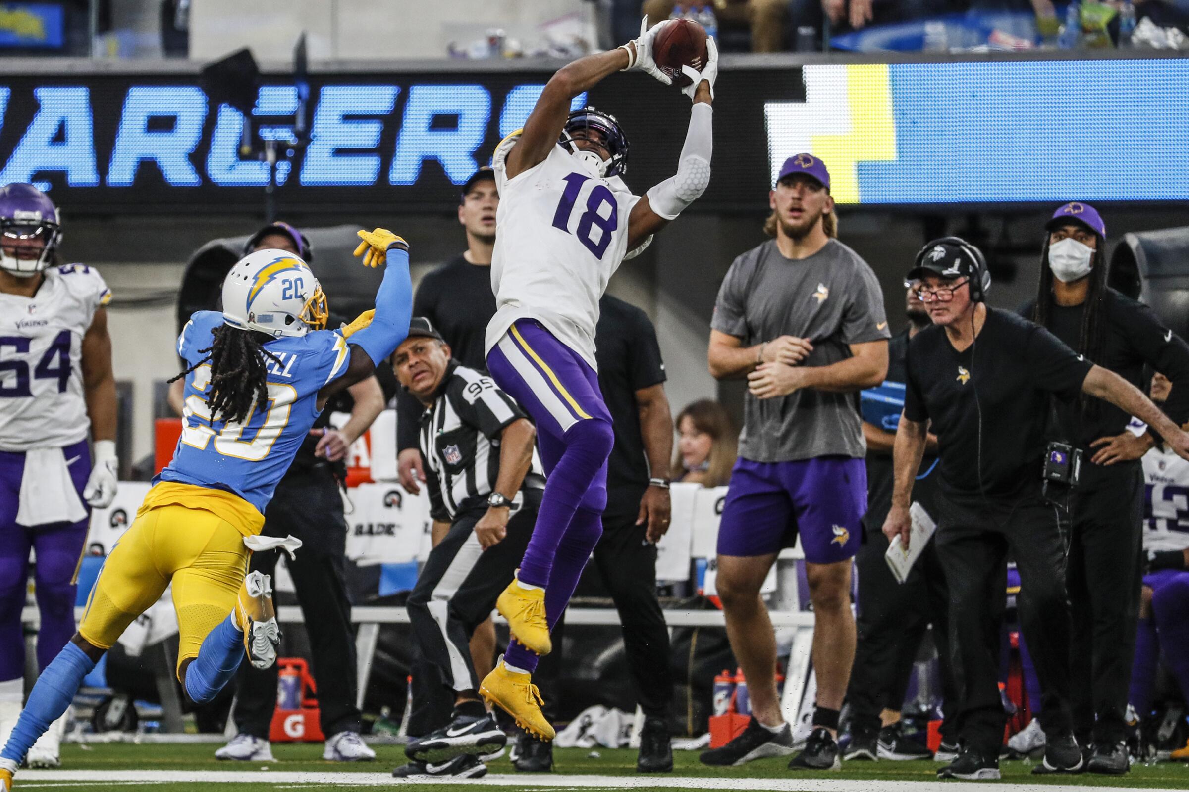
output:
[[640, 38], [559, 70], [524, 128], [496, 147], [492, 161], [499, 235], [491, 261], [497, 310], [487, 325], [487, 368], [531, 414], [549, 475], [517, 579], [497, 603], [515, 640], [480, 693], [543, 740], [554, 733], [530, 673], [552, 648], [549, 631], [603, 532], [606, 506], [614, 435], [594, 370], [598, 300], [629, 251], [647, 245], [710, 182], [713, 39], [700, 72], [685, 66], [691, 83], [682, 93], [693, 108], [677, 175], [644, 196], [633, 195], [621, 178], [628, 140], [615, 118], [570, 107], [616, 71], [641, 70], [671, 83], [652, 56], [658, 32], [669, 24], [642, 27]]

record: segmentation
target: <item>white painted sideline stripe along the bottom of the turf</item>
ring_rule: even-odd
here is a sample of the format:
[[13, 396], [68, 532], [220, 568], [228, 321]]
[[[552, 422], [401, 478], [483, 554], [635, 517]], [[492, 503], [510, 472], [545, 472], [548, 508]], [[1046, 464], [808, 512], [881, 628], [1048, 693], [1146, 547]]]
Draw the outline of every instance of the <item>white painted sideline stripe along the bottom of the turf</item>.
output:
[[[388, 786], [400, 787], [385, 771], [383, 773], [294, 773], [273, 771], [61, 771], [31, 769], [21, 771], [18, 777], [23, 784], [18, 788], [38, 786], [38, 781], [106, 781], [109, 785], [144, 784], [294, 784], [294, 785], [339, 785], [339, 786]], [[485, 775], [474, 779], [410, 779], [413, 784], [435, 784], [442, 786], [536, 786], [547, 788], [652, 788], [656, 786], [679, 786], [690, 790], [770, 790], [773, 792], [1086, 792], [1086, 787], [1052, 784], [1012, 784], [1002, 781], [883, 781], [856, 779], [776, 779], [776, 778], [637, 778], [634, 775], [547, 775], [530, 777], [523, 774]], [[43, 787], [50, 784], [40, 784]], [[55, 785], [57, 786], [57, 785]], [[62, 785], [67, 786], [67, 785]], [[1101, 787], [1113, 792], [1152, 792], [1151, 787]], [[1172, 792], [1158, 790], [1157, 792]]]

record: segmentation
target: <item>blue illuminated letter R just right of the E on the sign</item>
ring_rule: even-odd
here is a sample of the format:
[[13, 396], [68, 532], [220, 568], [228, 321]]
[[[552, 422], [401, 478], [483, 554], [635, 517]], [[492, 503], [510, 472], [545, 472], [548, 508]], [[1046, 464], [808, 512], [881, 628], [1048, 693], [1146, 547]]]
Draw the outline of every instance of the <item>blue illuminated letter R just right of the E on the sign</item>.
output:
[[[455, 115], [453, 128], [433, 128], [434, 116]], [[474, 151], [483, 142], [491, 118], [491, 94], [483, 85], [413, 85], [404, 106], [390, 184], [414, 184], [421, 164], [436, 159], [454, 184], [478, 167]]]

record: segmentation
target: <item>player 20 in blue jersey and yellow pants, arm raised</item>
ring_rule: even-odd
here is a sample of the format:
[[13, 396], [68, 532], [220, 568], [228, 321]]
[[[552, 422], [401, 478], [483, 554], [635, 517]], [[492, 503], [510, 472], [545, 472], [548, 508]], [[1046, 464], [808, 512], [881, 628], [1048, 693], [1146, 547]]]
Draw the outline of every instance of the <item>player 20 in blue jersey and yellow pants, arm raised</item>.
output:
[[342, 330], [323, 329], [317, 279], [277, 249], [241, 259], [224, 280], [222, 312], [200, 311], [182, 329], [185, 410], [174, 460], [107, 557], [78, 632], [33, 686], [0, 750], [0, 792], [83, 677], [170, 583], [177, 678], [189, 701], [212, 701], [245, 647], [256, 667], [276, 661], [271, 584], [260, 572], [245, 577], [247, 562], [251, 550], [300, 543], [258, 536], [264, 509], [327, 399], [370, 376], [404, 340], [413, 313], [405, 241], [383, 229], [359, 234], [357, 254], [389, 266], [375, 311]]

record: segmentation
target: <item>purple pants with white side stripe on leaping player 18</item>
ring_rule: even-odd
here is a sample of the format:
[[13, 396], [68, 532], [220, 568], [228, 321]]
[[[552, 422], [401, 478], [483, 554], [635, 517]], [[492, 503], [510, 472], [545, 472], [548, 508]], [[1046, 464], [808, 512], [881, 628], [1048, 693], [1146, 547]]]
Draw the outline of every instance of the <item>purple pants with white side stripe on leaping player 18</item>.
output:
[[[516, 322], [491, 351], [487, 370], [531, 416], [547, 475], [520, 581], [545, 588], [549, 629], [603, 536], [606, 460], [615, 443], [598, 375], [541, 324]], [[535, 671], [537, 655], [512, 641], [504, 660]]]

